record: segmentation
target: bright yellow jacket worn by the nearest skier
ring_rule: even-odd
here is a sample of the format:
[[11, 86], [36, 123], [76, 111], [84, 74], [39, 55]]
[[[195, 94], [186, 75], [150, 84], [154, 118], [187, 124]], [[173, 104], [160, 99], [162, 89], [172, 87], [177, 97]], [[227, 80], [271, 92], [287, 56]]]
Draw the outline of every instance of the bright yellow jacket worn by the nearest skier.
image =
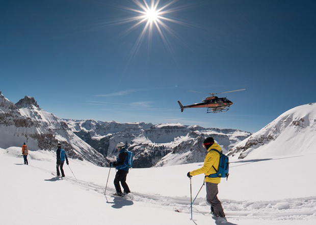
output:
[[[191, 176], [199, 175], [202, 173], [204, 173], [205, 176], [208, 176], [210, 174], [216, 173], [213, 166], [216, 168], [216, 170], [218, 170], [219, 163], [220, 163], [220, 154], [217, 151], [210, 151], [210, 149], [216, 149], [216, 150], [222, 151], [222, 148], [217, 143], [214, 143], [212, 146], [210, 146], [207, 149], [207, 154], [204, 159], [203, 167], [201, 167], [200, 169], [191, 171], [190, 172]], [[206, 177], [205, 182], [220, 183], [221, 178], [220, 177], [214, 177], [214, 178]]]

